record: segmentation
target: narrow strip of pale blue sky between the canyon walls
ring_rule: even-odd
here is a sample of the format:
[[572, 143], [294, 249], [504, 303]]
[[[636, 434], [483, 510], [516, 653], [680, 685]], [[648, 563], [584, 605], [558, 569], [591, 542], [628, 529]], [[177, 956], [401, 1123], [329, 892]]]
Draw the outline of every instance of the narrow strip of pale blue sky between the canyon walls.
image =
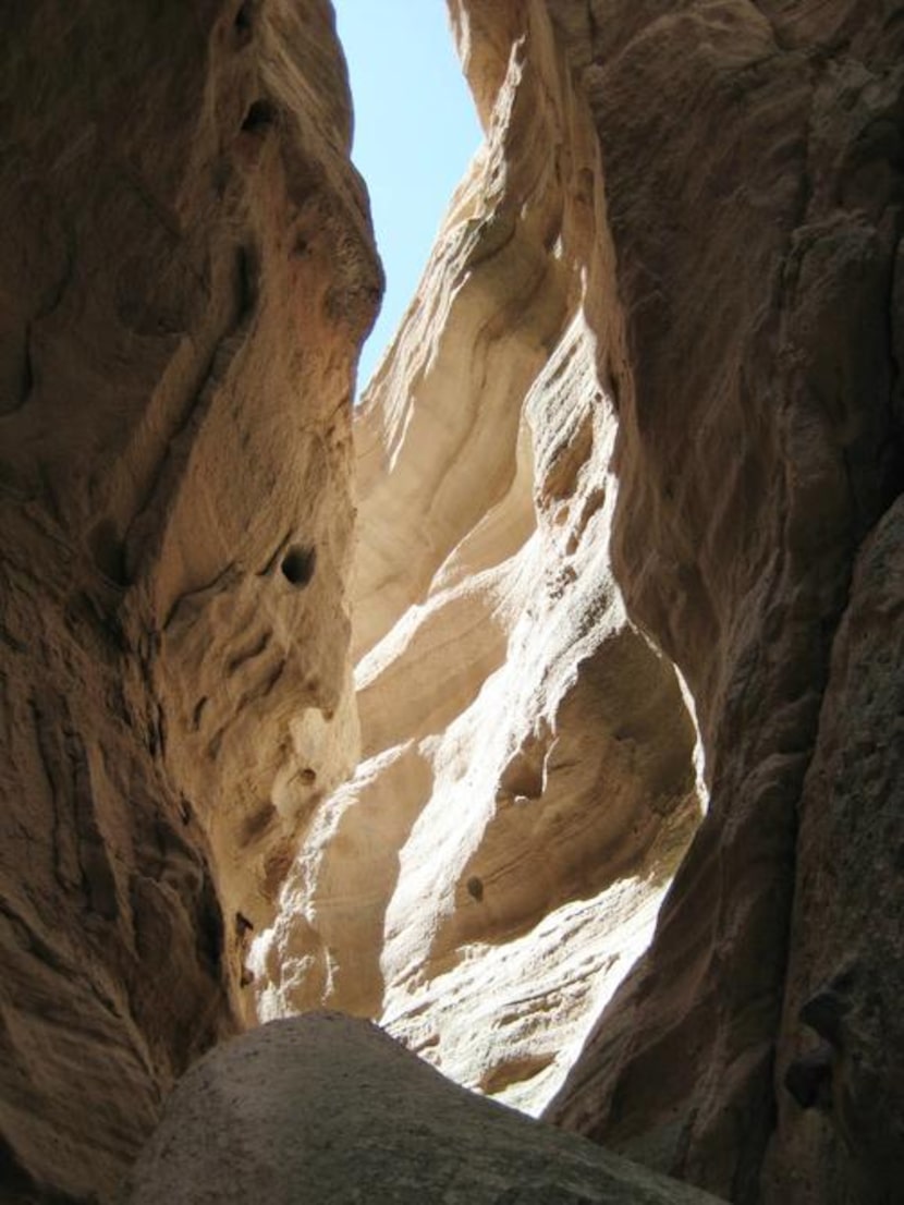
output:
[[368, 383], [415, 294], [458, 181], [482, 141], [445, 0], [333, 0], [354, 101], [352, 159], [383, 260], [383, 308], [364, 346]]

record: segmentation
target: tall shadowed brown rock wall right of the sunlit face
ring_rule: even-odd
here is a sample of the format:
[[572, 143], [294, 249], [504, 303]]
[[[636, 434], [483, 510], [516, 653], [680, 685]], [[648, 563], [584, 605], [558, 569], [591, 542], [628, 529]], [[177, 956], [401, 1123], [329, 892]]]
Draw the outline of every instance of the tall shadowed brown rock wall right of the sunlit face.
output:
[[[846, 933], [841, 916], [864, 916], [853, 880], [873, 874], [805, 775], [826, 741], [838, 766], [861, 758], [861, 723], [849, 745], [832, 718], [851, 687], [829, 680], [823, 703], [829, 651], [858, 551], [900, 490], [904, 10], [554, 11], [599, 133], [627, 330], [614, 564], [629, 615], [688, 682], [711, 805], [551, 1116], [738, 1203], [885, 1200], [861, 1181], [898, 1127], [899, 1038], [881, 1058], [868, 1042], [886, 1068], [877, 1148], [862, 1088], [837, 1117], [845, 1142], [803, 1138], [814, 1123], [782, 1080], [797, 1010], [845, 969], [844, 942], [816, 935], [833, 928], [824, 876], [850, 868], [830, 909]], [[891, 716], [891, 669], [868, 676], [882, 680], [875, 716]], [[857, 806], [896, 847], [885, 757]], [[900, 918], [900, 881], [882, 883]], [[894, 959], [869, 965], [857, 993], [893, 994]], [[785, 1154], [767, 1188], [777, 1100]]]

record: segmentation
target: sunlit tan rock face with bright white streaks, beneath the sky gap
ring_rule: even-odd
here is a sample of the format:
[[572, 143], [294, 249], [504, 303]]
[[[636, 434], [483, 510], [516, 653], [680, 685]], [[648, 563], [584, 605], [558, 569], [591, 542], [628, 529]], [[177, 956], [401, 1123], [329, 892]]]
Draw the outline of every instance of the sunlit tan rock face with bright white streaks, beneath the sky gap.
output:
[[702, 801], [679, 678], [612, 572], [626, 352], [589, 110], [544, 5], [492, 61], [454, 16], [487, 142], [356, 428], [363, 760], [250, 965], [264, 1017], [378, 1017], [538, 1111]]

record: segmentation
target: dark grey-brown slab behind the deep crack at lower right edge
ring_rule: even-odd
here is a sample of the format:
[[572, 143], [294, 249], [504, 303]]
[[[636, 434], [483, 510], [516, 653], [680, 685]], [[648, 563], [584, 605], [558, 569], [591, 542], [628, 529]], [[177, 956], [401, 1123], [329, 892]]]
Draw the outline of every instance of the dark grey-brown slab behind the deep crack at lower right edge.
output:
[[[809, 1097], [779, 1097], [769, 1199], [887, 1201], [904, 1183], [904, 505], [857, 558], [800, 803], [800, 874], [779, 1075], [817, 1064]], [[812, 1077], [811, 1077], [812, 1082]], [[808, 1111], [802, 1111], [802, 1107]], [[855, 1156], [834, 1151], [835, 1129]], [[837, 1164], [841, 1162], [840, 1169]]]

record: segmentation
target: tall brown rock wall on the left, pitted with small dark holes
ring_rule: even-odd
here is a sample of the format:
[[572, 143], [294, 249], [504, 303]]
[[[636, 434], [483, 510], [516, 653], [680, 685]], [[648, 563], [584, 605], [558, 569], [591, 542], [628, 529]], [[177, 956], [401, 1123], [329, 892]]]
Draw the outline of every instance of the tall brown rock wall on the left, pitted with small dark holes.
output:
[[354, 764], [380, 274], [325, 2], [7, 10], [0, 1195], [107, 1200]]

